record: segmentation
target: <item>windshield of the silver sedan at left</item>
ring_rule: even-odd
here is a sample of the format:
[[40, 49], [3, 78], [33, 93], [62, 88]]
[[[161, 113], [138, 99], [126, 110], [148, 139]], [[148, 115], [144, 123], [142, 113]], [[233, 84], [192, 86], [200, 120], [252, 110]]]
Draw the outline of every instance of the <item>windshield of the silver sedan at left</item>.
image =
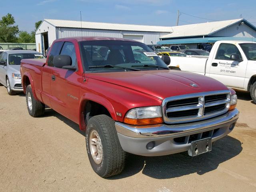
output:
[[9, 65], [20, 65], [22, 59], [42, 59], [45, 58], [40, 53], [17, 53], [9, 54]]

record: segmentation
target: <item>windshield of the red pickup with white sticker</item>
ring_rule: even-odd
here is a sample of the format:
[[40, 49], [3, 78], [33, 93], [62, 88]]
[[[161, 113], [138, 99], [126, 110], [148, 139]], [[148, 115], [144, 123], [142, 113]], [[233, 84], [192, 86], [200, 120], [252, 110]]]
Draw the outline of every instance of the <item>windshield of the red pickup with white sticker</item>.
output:
[[143, 43], [99, 40], [80, 42], [86, 71], [115, 72], [168, 69], [162, 59]]

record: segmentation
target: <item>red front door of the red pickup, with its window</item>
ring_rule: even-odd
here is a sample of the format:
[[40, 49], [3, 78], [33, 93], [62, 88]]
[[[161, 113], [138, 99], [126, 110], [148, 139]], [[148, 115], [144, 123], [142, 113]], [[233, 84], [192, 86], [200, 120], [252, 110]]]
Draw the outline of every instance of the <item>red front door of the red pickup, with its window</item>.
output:
[[[64, 42], [60, 55], [68, 55], [72, 59], [72, 66], [77, 66], [77, 57], [73, 42]], [[60, 114], [78, 122], [79, 89], [82, 74], [78, 71], [63, 68], [52, 68], [51, 104], [52, 108]]]

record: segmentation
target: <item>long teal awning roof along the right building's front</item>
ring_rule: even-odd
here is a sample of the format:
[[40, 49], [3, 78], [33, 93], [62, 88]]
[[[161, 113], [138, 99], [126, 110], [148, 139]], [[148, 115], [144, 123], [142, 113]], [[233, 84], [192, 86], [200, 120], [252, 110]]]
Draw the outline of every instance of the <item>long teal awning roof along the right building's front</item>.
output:
[[215, 43], [221, 40], [234, 40], [234, 41], [256, 41], [256, 38], [244, 38], [244, 37], [205, 37], [205, 38], [181, 38], [158, 41], [158, 44], [190, 44], [190, 43]]

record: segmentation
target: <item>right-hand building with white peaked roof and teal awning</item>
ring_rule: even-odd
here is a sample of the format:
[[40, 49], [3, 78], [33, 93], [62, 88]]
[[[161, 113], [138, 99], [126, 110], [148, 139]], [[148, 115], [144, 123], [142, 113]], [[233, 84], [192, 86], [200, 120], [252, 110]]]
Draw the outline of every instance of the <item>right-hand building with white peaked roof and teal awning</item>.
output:
[[211, 43], [218, 40], [256, 39], [256, 27], [245, 19], [234, 19], [206, 22], [172, 27], [170, 34], [160, 38], [159, 44], [185, 44], [197, 48], [200, 43]]

